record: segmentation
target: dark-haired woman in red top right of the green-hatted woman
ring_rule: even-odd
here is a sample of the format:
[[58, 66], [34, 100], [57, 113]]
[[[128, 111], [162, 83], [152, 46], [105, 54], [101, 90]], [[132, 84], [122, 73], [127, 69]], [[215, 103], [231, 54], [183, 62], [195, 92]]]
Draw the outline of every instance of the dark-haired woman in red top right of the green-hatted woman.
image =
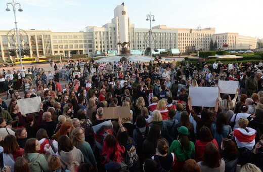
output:
[[195, 142], [195, 151], [196, 151], [195, 160], [197, 162], [202, 160], [205, 146], [209, 142], [214, 143], [216, 147], [219, 148], [216, 140], [212, 136], [210, 129], [207, 126], [203, 126], [201, 127], [200, 132], [199, 132], [199, 140]]

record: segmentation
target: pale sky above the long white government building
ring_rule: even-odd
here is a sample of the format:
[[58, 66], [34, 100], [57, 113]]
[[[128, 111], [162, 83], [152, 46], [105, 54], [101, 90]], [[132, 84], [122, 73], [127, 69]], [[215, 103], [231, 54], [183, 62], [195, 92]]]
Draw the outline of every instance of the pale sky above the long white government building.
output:
[[[15, 27], [11, 0], [0, 0], [0, 29]], [[240, 35], [263, 38], [262, 0], [16, 0], [23, 12], [16, 12], [18, 27], [54, 32], [78, 32], [86, 26], [101, 27], [110, 23], [113, 10], [124, 2], [127, 15], [135, 28], [149, 28], [146, 15], [155, 16], [152, 26], [176, 28], [215, 27], [216, 33], [237, 32]], [[18, 10], [19, 6], [17, 6]]]

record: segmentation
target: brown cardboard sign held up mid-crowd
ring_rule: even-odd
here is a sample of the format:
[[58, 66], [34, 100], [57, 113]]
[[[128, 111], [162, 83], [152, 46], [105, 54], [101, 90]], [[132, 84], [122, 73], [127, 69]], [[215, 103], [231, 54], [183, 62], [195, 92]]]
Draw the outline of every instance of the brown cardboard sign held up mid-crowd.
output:
[[128, 106], [103, 108], [103, 116], [105, 119], [129, 118], [129, 110]]

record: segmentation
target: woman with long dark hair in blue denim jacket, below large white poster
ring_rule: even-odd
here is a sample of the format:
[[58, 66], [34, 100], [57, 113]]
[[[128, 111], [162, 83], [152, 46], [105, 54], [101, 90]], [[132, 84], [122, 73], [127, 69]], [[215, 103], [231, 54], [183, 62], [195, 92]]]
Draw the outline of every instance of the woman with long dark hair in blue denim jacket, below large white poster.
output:
[[216, 140], [219, 147], [221, 147], [221, 142], [223, 138], [227, 138], [232, 132], [232, 128], [228, 125], [227, 115], [223, 112], [217, 115], [216, 123], [212, 123], [211, 130], [213, 133], [213, 138]]

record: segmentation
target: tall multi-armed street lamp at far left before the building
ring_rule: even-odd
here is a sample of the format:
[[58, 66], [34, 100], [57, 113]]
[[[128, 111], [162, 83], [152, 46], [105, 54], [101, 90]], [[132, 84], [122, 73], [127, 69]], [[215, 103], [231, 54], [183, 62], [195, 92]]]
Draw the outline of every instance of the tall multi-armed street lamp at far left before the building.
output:
[[22, 77], [25, 77], [25, 72], [23, 70], [23, 64], [22, 64], [22, 57], [21, 57], [21, 46], [20, 46], [20, 37], [18, 35], [18, 28], [17, 28], [17, 21], [16, 21], [16, 5], [19, 5], [19, 12], [22, 12], [23, 10], [21, 9], [21, 5], [19, 3], [15, 3], [14, 0], [12, 3], [7, 3], [7, 12], [10, 12], [10, 9], [8, 8], [8, 5], [11, 5], [13, 7], [13, 12], [15, 15], [15, 24], [16, 24], [16, 34], [17, 34], [17, 48], [18, 48], [18, 54], [19, 54], [19, 58], [20, 58], [20, 66], [21, 66], [21, 74]]

